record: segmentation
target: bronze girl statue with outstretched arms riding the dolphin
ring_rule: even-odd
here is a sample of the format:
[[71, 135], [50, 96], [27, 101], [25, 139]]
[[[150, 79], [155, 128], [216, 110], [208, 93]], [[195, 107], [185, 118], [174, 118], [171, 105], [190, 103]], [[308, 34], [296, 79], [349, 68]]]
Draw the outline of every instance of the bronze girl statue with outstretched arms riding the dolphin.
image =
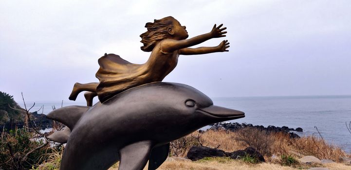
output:
[[211, 38], [224, 37], [227, 32], [223, 32], [226, 28], [221, 28], [222, 25], [216, 27], [215, 24], [211, 32], [186, 39], [186, 27], [173, 17], [148, 22], [145, 25], [148, 31], [140, 35], [140, 42], [144, 44], [141, 50], [151, 51], [146, 63], [133, 64], [118, 55], [105, 54], [98, 60], [100, 68], [95, 75], [100, 82], [75, 83], [69, 99], [75, 101], [80, 92], [89, 91], [84, 94], [88, 106], [92, 105], [95, 96], [98, 96], [100, 102], [105, 102], [129, 88], [162, 81], [177, 66], [179, 55], [228, 51], [227, 40], [216, 47], [188, 48]]

